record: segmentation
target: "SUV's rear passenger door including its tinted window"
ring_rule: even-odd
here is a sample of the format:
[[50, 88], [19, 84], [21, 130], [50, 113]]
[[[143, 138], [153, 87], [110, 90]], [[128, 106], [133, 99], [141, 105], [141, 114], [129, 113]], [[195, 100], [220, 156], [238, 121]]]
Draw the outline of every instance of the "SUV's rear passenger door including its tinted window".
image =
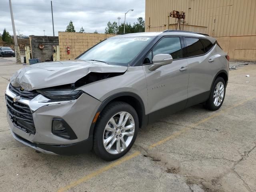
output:
[[209, 62], [214, 45], [206, 39], [184, 37], [189, 68], [188, 106], [208, 99], [218, 65]]

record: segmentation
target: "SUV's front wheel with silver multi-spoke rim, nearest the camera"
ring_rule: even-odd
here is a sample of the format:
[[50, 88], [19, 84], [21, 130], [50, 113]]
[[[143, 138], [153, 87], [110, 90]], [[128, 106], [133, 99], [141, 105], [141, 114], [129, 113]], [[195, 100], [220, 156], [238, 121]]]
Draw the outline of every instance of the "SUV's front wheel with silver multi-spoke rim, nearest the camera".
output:
[[138, 115], [132, 106], [118, 101], [108, 104], [96, 123], [94, 152], [106, 161], [124, 156], [136, 140], [138, 126]]

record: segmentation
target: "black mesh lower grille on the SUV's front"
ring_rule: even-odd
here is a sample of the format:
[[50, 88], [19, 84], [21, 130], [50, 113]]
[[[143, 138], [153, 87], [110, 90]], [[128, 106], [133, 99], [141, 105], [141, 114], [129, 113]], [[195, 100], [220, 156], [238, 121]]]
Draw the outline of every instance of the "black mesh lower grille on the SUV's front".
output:
[[7, 111], [14, 126], [27, 133], [35, 134], [36, 128], [29, 106], [20, 102], [14, 102], [13, 98], [8, 95], [5, 98]]

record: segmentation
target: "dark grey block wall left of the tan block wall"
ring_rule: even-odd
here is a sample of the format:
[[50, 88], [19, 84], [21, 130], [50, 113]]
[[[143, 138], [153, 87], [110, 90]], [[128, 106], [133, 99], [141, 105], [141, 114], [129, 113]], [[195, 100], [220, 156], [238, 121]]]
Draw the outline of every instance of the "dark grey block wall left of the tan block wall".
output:
[[[53, 36], [29, 36], [32, 58], [39, 58], [41, 62], [51, 59], [52, 46], [59, 45], [58, 37]], [[40, 49], [39, 44], [43, 44], [44, 48]]]

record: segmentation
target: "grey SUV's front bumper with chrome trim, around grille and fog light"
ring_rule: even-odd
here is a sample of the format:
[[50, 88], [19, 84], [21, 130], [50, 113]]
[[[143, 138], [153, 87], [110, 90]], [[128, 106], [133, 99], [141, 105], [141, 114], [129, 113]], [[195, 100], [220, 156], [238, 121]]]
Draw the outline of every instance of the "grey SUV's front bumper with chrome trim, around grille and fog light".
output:
[[[6, 89], [6, 95], [14, 98], [16, 94]], [[76, 154], [91, 150], [92, 136], [90, 126], [101, 102], [88, 94], [65, 102], [52, 102], [42, 95], [32, 100], [20, 99], [18, 102], [29, 106], [36, 129], [35, 134], [25, 132], [16, 126], [7, 112], [10, 130], [16, 140], [47, 154]], [[72, 128], [77, 139], [69, 140], [52, 133], [52, 119], [62, 118]]]

